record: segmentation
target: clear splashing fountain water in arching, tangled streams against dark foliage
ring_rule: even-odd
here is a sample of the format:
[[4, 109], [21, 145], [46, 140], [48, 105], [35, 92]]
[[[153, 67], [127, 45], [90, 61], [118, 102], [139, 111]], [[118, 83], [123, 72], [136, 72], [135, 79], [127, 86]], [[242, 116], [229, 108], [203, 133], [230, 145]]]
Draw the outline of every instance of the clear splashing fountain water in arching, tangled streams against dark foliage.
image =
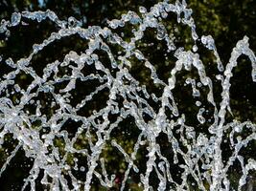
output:
[[[128, 11], [128, 13], [122, 15], [121, 19], [108, 21], [108, 27], [104, 29], [100, 26], [91, 26], [84, 29], [74, 17], [70, 17], [68, 21], [62, 21], [58, 19], [53, 11], [14, 12], [11, 21], [3, 20], [1, 22], [0, 32], [5, 33], [7, 38], [12, 37], [10, 32], [12, 27], [26, 25], [23, 21], [24, 18], [36, 22], [50, 19], [56, 23], [58, 32], [52, 32], [41, 44], [35, 44], [29, 56], [20, 58], [16, 62], [12, 58], [5, 60], [6, 65], [12, 68], [12, 72], [3, 75], [0, 81], [0, 146], [4, 143], [7, 134], [12, 134], [18, 144], [1, 167], [0, 176], [17, 151], [23, 149], [26, 157], [33, 159], [34, 162], [30, 175], [24, 180], [23, 189], [29, 187], [31, 190], [35, 190], [35, 180], [38, 179], [40, 171], [43, 171], [43, 178], [40, 183], [49, 186], [51, 190], [90, 190], [93, 177], [97, 178], [102, 186], [110, 188], [115, 184], [116, 175], [107, 173], [105, 159], [102, 157], [106, 142], [110, 141], [111, 146], [123, 155], [128, 164], [120, 186], [121, 190], [126, 188], [131, 171], [140, 176], [140, 185], [144, 190], [152, 190], [151, 174], [153, 172], [159, 180], [157, 190], [189, 190], [191, 178], [200, 190], [230, 190], [227, 171], [237, 159], [243, 169], [243, 175], [239, 180], [237, 189], [242, 189], [249, 171], [256, 169], [256, 161], [255, 159], [248, 159], [245, 162], [243, 156], [240, 155], [240, 150], [246, 147], [249, 141], [256, 139], [256, 125], [250, 121], [239, 122], [234, 120], [226, 123], [225, 117], [227, 112], [231, 112], [229, 89], [232, 70], [237, 67], [237, 60], [242, 54], [247, 55], [250, 59], [252, 80], [256, 82], [256, 57], [249, 49], [248, 38], [244, 36], [244, 39], [237, 43], [231, 53], [229, 62], [224, 68], [212, 36], [203, 35], [198, 37], [192, 10], [187, 8], [184, 0], [177, 0], [175, 4], [168, 1], [160, 2], [151, 7], [150, 11], [140, 7], [139, 12], [137, 14]], [[195, 41], [191, 51], [176, 47], [174, 38], [169, 35], [166, 26], [162, 23], [171, 12], [176, 14], [178, 23], [191, 29], [191, 35]], [[136, 26], [129, 41], [113, 32], [116, 29], [122, 29], [127, 23]], [[175, 55], [175, 66], [171, 70], [168, 82], [157, 75], [155, 65], [147, 59], [147, 55], [144, 55], [137, 46], [136, 42], [139, 42], [144, 37], [144, 32], [150, 29], [155, 29], [157, 40], [163, 41], [167, 45], [167, 53]], [[33, 57], [45, 47], [50, 46], [51, 43], [73, 34], [79, 34], [81, 39], [88, 41], [88, 46], [84, 48], [83, 53], [71, 51], [64, 56], [62, 61], [56, 60], [53, 63], [48, 63], [42, 76], [36, 74], [35, 69], [31, 66]], [[220, 104], [215, 102], [212, 79], [206, 74], [205, 65], [197, 53], [198, 46], [196, 42], [201, 42], [216, 57], [217, 68], [220, 71], [217, 78], [221, 80], [222, 86]], [[118, 46], [122, 50], [117, 59], [109, 45]], [[106, 67], [105, 63], [101, 62], [96, 53], [99, 50], [107, 54], [111, 63], [110, 66]], [[154, 84], [163, 87], [161, 96], [149, 94], [147, 87], [130, 74], [130, 68], [133, 67], [130, 63], [132, 57], [143, 62], [144, 66], [151, 71], [149, 77], [151, 77]], [[92, 66], [97, 73], [84, 75], [82, 69], [85, 66]], [[61, 67], [68, 67], [72, 72], [70, 74], [59, 74]], [[187, 78], [185, 81], [186, 85], [192, 87], [192, 96], [199, 97], [198, 87], [205, 88], [208, 90], [207, 101], [214, 107], [214, 120], [208, 127], [210, 136], [203, 133], [198, 134], [197, 127], [186, 125], [186, 116], [179, 113], [175, 102], [173, 91], [176, 84], [176, 74], [180, 71], [189, 72], [192, 68], [197, 70], [199, 76], [199, 82], [196, 82], [193, 78]], [[15, 77], [20, 73], [33, 77], [33, 81], [27, 89], [22, 89], [15, 83]], [[94, 91], [88, 93], [80, 103], [73, 106], [71, 104], [71, 92], [76, 91], [78, 80], [82, 82], [91, 81], [91, 83], [96, 80], [100, 85], [96, 86]], [[62, 82], [67, 82], [67, 85], [63, 89], [56, 90], [56, 86]], [[21, 95], [19, 100], [13, 102], [8, 94], [6, 96], [10, 87], [13, 87], [13, 94]], [[86, 104], [104, 90], [108, 92], [105, 107], [99, 111], [93, 111], [93, 114], [89, 117], [81, 116], [80, 110], [82, 108], [86, 109]], [[86, 92], [86, 90], [84, 91]], [[35, 101], [40, 93], [53, 97], [51, 106], [57, 109], [50, 117], [42, 113], [43, 103], [40, 100]], [[120, 100], [123, 101], [120, 102]], [[157, 110], [151, 106], [150, 100], [159, 105]], [[25, 112], [25, 107], [28, 105], [35, 107], [35, 113]], [[203, 117], [206, 110], [199, 100], [196, 105], [198, 107], [198, 123], [204, 124], [207, 120]], [[171, 111], [171, 117], [167, 111]], [[145, 114], [151, 119], [146, 120]], [[110, 119], [109, 116], [111, 115], [116, 117]], [[127, 117], [133, 117], [136, 127], [140, 130], [138, 138], [134, 140], [135, 144], [131, 154], [128, 154], [111, 135], [111, 132]], [[81, 122], [80, 126], [74, 127], [77, 128], [77, 131], [73, 138], [69, 138], [68, 132], [61, 129], [68, 119]], [[33, 125], [35, 122], [37, 124], [36, 128]], [[245, 128], [251, 131], [248, 137], [234, 136]], [[43, 131], [43, 129], [47, 129], [47, 131]], [[95, 140], [92, 140], [91, 131], [95, 132]], [[233, 148], [233, 153], [226, 162], [221, 159], [221, 143], [224, 131], [230, 132], [229, 138]], [[175, 138], [176, 133], [179, 134], [179, 138]], [[81, 134], [85, 135], [88, 140], [86, 144], [88, 145], [84, 149], [77, 149], [74, 144]], [[168, 137], [167, 144], [170, 153], [174, 154], [173, 161], [162, 154], [161, 145], [156, 141], [159, 134], [165, 134]], [[64, 139], [64, 155], [61, 157], [58, 146], [54, 144], [55, 138]], [[140, 166], [135, 165], [136, 156], [140, 147], [145, 144], [148, 150], [146, 170], [141, 171]], [[79, 166], [76, 159], [74, 159], [75, 165], [71, 165], [67, 161], [68, 154], [82, 154], [85, 156], [87, 166]], [[173, 178], [176, 174], [172, 170], [173, 163], [179, 165], [182, 169], [179, 182]], [[86, 178], [85, 181], [79, 180], [72, 174], [73, 168], [80, 168]], [[64, 176], [64, 173], [69, 179]]]

